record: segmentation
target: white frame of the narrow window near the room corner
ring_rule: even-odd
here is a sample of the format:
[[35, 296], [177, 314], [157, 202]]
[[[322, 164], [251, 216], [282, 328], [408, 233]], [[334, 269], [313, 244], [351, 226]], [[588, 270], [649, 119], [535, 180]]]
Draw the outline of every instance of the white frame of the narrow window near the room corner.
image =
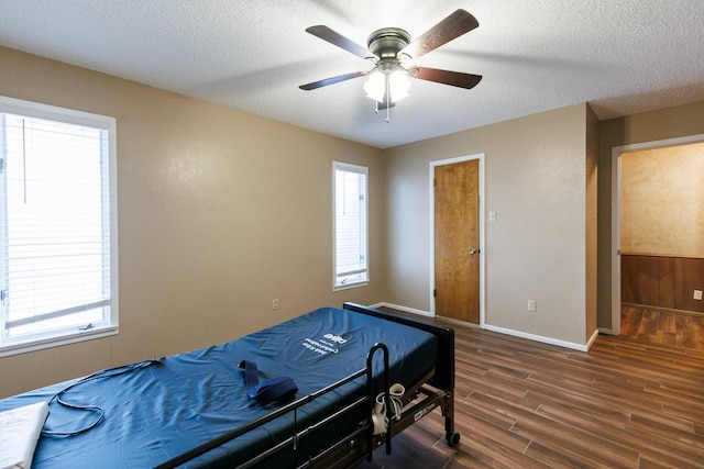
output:
[[[338, 199], [337, 199], [337, 172], [338, 170], [346, 172], [356, 172], [364, 175], [365, 194], [364, 194], [364, 241], [365, 241], [365, 260], [366, 267], [364, 269], [365, 277], [360, 280], [354, 280], [349, 283], [338, 282]], [[370, 236], [369, 236], [369, 193], [370, 193], [370, 176], [369, 168], [366, 166], [352, 165], [349, 163], [332, 161], [332, 290], [348, 290], [351, 288], [365, 287], [370, 284]]]

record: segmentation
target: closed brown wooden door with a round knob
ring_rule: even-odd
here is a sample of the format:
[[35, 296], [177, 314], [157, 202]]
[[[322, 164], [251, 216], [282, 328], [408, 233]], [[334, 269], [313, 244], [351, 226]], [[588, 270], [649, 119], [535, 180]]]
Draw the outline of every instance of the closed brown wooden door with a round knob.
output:
[[479, 159], [435, 168], [436, 314], [479, 324]]

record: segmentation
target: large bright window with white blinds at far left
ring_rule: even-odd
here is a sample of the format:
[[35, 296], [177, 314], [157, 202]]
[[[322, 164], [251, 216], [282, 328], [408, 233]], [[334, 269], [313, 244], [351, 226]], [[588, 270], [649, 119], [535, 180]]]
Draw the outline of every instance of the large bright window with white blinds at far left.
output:
[[0, 353], [117, 331], [114, 120], [0, 100]]

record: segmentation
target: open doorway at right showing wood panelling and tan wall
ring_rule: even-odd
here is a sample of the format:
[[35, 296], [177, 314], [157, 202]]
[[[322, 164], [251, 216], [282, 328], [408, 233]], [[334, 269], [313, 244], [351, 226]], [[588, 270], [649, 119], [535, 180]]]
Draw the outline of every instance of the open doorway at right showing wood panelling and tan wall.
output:
[[678, 345], [704, 313], [703, 152], [704, 135], [612, 148], [609, 333]]

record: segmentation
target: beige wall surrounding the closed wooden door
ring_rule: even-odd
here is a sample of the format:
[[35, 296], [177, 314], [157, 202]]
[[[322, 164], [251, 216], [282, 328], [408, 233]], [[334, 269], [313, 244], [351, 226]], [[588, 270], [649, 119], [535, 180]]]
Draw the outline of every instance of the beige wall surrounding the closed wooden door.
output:
[[388, 149], [387, 301], [430, 311], [429, 164], [484, 153], [485, 208], [497, 214], [486, 222], [486, 324], [584, 345], [595, 323], [595, 291], [585, 323], [587, 118], [579, 104]]

